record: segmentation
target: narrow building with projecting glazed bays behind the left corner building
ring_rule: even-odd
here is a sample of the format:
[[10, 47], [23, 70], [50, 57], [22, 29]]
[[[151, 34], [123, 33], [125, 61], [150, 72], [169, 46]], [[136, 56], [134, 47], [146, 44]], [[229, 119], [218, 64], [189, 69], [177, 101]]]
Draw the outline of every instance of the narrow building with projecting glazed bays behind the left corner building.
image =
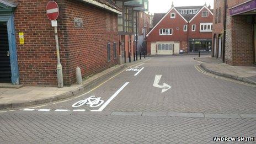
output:
[[[140, 25], [145, 22], [142, 13], [147, 12], [148, 0], [114, 0], [122, 9], [122, 15], [118, 15], [118, 34], [121, 62], [128, 61], [129, 54], [134, 60], [138, 49], [138, 35]], [[136, 36], [137, 35], [137, 36]], [[126, 59], [126, 60], [125, 60]]]

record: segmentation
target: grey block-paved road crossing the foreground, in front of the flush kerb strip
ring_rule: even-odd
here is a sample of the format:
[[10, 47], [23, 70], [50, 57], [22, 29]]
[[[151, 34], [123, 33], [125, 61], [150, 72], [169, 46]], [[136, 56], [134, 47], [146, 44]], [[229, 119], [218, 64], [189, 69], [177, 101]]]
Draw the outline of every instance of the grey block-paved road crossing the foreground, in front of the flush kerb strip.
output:
[[255, 119], [83, 114], [0, 114], [0, 143], [216, 143], [255, 136]]

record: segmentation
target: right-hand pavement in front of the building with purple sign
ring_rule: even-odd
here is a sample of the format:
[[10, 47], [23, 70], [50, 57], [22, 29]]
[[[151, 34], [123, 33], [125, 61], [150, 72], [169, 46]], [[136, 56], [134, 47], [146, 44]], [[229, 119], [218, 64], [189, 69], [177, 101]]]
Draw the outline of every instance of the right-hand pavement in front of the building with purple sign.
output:
[[195, 58], [195, 60], [204, 62], [200, 66], [207, 72], [246, 83], [256, 84], [256, 67], [254, 66], [231, 66], [213, 57]]

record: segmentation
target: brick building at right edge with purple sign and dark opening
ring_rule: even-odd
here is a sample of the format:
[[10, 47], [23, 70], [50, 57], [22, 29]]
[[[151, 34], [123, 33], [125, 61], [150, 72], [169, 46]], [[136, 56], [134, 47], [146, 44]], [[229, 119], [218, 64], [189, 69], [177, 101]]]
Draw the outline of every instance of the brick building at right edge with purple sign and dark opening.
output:
[[214, 4], [212, 56], [230, 65], [255, 64], [256, 1], [215, 0]]

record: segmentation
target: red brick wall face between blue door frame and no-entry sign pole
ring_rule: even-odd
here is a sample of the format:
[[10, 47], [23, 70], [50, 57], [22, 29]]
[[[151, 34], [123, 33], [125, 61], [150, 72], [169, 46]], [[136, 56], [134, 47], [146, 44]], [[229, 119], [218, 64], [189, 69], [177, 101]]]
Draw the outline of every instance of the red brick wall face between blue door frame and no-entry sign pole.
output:
[[[54, 28], [45, 14], [47, 2], [49, 1], [15, 1], [18, 7], [14, 13], [14, 23], [22, 84], [57, 84]], [[24, 33], [24, 45], [19, 44], [19, 32]]]

